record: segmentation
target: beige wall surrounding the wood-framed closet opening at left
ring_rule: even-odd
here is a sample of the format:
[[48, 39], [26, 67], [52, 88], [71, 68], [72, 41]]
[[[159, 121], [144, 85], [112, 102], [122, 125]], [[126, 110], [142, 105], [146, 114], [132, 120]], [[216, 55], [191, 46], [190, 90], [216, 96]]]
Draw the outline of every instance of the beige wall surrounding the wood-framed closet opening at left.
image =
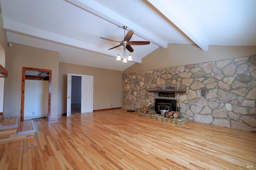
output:
[[22, 67], [52, 70], [51, 119], [57, 118], [58, 109], [58, 64], [56, 51], [12, 43], [6, 51], [8, 78], [4, 84], [4, 115], [20, 115]]

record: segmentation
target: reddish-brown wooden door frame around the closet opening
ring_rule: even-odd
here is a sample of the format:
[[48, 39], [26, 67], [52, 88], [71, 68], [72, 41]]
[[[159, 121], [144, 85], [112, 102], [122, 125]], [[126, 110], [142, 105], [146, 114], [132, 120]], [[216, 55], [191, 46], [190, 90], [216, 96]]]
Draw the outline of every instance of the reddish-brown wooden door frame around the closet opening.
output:
[[49, 72], [49, 80], [48, 80], [49, 81], [49, 85], [48, 85], [48, 121], [51, 121], [52, 70], [43, 69], [43, 68], [29, 68], [29, 67], [22, 67], [20, 121], [24, 121], [26, 70]]

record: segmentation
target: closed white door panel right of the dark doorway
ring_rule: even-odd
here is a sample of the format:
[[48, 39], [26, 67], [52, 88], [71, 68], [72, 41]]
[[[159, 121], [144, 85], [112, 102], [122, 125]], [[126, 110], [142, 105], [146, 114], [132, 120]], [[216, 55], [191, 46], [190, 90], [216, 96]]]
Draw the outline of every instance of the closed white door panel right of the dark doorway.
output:
[[93, 76], [82, 76], [81, 113], [93, 111]]

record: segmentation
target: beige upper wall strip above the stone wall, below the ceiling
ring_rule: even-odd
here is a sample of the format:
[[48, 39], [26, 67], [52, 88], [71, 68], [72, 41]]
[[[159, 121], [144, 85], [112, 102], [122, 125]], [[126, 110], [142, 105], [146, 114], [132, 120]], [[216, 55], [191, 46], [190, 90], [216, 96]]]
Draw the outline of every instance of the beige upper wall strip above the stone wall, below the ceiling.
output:
[[196, 45], [168, 44], [168, 48], [163, 49], [159, 47], [144, 57], [142, 64], [135, 63], [124, 70], [124, 73], [233, 59], [254, 54], [256, 54], [256, 46], [209, 45], [208, 51], [202, 51], [202, 49]]

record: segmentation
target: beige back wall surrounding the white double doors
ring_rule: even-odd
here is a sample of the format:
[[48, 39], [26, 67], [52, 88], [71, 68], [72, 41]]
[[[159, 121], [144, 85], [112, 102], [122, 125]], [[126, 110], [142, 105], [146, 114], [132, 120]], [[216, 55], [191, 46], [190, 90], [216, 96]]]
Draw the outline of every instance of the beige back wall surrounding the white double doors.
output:
[[122, 107], [122, 72], [59, 63], [58, 113], [66, 113], [67, 74], [93, 76], [93, 110]]

